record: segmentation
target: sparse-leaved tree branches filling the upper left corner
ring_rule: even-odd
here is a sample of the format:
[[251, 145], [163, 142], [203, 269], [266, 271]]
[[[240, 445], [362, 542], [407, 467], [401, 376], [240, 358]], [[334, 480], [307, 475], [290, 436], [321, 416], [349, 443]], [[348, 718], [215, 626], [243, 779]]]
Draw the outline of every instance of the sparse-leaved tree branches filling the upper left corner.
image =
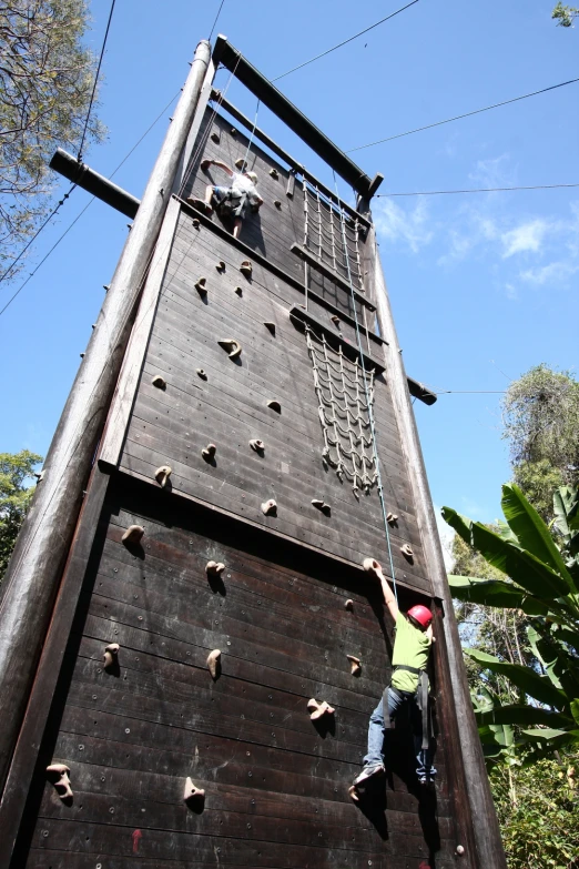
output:
[[[77, 148], [93, 85], [84, 0], [0, 1], [0, 263], [10, 267], [51, 208], [48, 162]], [[87, 139], [103, 128], [91, 113]], [[13, 277], [18, 270], [10, 271]]]

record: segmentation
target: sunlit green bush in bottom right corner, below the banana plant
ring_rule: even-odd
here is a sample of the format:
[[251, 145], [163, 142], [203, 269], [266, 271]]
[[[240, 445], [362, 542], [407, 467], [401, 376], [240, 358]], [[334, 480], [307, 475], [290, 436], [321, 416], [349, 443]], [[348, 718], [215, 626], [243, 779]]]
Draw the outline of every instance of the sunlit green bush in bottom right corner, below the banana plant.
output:
[[509, 869], [579, 866], [579, 754], [532, 767], [496, 766], [490, 787]]

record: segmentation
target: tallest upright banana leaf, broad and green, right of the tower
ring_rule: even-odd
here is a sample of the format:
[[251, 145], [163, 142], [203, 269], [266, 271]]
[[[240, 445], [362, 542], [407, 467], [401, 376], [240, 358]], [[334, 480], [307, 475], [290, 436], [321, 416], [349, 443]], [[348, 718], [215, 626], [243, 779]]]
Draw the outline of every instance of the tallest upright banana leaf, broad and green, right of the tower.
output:
[[568, 589], [576, 592], [573, 578], [555, 545], [549, 528], [514, 483], [502, 486], [501, 506], [505, 518], [522, 548], [551, 567], [565, 579]]

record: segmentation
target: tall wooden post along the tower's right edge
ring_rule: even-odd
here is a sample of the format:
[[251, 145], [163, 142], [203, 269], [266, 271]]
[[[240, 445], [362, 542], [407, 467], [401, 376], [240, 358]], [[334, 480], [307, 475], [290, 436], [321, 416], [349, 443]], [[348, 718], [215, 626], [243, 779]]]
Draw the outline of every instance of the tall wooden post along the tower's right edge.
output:
[[[394, 317], [386, 291], [386, 282], [382, 271], [374, 229], [370, 230], [368, 238], [368, 250], [369, 255], [366, 269], [370, 272], [368, 275], [372, 284], [370, 299], [377, 306], [380, 335], [388, 342], [388, 346], [384, 348], [386, 373], [396, 411], [402, 447], [406, 455], [414, 491], [416, 516], [420, 528], [425, 560], [433, 580], [435, 595], [441, 600], [444, 607], [444, 618], [440, 620], [440, 624], [444, 629], [450, 673], [450, 685], [448, 688], [451, 687], [453, 690], [453, 705], [458, 725], [460, 752], [477, 851], [476, 866], [480, 869], [489, 869], [490, 867], [492, 869], [507, 869], [497, 815], [485, 768], [482, 748], [468, 690], [453, 598], [446, 578], [443, 550], [410, 403], [402, 350], [398, 345], [394, 326]], [[453, 751], [453, 747], [449, 746], [448, 751]]]

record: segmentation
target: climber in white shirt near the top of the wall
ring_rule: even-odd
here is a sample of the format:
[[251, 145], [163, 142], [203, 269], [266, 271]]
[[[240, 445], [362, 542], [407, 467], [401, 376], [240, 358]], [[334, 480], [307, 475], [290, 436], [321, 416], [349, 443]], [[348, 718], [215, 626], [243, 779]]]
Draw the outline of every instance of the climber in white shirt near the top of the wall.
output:
[[230, 176], [230, 185], [207, 184], [204, 200], [189, 196], [187, 202], [191, 202], [200, 211], [204, 211], [207, 216], [211, 216], [213, 209], [215, 209], [220, 216], [233, 218], [233, 238], [237, 239], [247, 212], [256, 212], [263, 205], [263, 199], [255, 188], [257, 175], [255, 172], [234, 172], [221, 160], [203, 160], [201, 163], [204, 172], [211, 165], [222, 169]]

